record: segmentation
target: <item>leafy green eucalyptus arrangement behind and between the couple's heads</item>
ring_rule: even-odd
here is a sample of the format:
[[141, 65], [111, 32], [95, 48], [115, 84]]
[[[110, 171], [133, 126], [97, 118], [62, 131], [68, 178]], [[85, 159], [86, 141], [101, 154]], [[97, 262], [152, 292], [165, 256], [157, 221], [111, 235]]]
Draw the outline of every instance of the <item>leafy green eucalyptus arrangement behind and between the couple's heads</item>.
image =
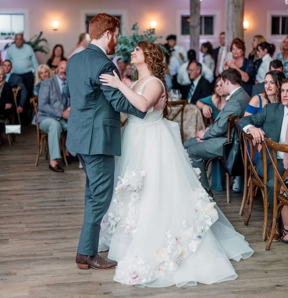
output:
[[[113, 59], [115, 56], [122, 56], [124, 61], [130, 61], [131, 52], [133, 52], [134, 48], [141, 40], [147, 40], [150, 42], [155, 42], [157, 39], [162, 38], [162, 36], [156, 36], [155, 35], [155, 29], [147, 29], [143, 32], [143, 34], [139, 34], [139, 28], [138, 23], [135, 23], [132, 26], [133, 34], [131, 36], [120, 34], [118, 39], [118, 44], [116, 46], [116, 52], [111, 56]], [[162, 51], [167, 53], [167, 50], [165, 47], [160, 45]]]

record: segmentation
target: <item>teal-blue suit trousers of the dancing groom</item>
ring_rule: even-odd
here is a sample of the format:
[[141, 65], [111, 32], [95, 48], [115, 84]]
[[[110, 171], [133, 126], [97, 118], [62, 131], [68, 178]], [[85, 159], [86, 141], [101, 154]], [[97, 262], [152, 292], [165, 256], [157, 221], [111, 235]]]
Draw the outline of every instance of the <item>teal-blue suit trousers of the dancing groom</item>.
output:
[[98, 254], [100, 223], [108, 210], [114, 186], [114, 156], [78, 154], [86, 173], [85, 212], [77, 252]]

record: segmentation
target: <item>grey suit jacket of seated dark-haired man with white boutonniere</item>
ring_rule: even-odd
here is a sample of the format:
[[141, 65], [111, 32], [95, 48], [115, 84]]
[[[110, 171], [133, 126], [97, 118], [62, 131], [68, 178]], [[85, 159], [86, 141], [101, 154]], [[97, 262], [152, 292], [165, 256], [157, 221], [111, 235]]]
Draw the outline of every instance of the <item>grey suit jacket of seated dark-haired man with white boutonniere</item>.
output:
[[204, 140], [212, 139], [209, 146], [207, 143], [207, 146], [209, 147], [207, 149], [208, 152], [219, 156], [223, 155], [223, 144], [227, 142], [228, 117], [243, 115], [249, 101], [250, 96], [242, 87], [233, 93], [232, 97], [226, 105], [224, 105], [224, 108], [220, 111], [213, 124], [209, 126], [208, 131], [204, 134]]

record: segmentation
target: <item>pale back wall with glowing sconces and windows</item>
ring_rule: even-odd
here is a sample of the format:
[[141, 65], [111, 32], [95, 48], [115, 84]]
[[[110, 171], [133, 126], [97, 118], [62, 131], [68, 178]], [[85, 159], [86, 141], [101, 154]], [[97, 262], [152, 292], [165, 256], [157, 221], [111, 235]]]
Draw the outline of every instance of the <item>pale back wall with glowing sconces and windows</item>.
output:
[[[143, 31], [149, 28], [151, 20], [156, 20], [156, 33], [164, 37], [161, 42], [165, 41], [168, 34], [174, 33], [178, 35], [178, 44], [188, 50], [189, 39], [180, 36], [180, 15], [189, 14], [189, 5], [189, 0], [0, 0], [0, 11], [24, 11], [27, 15], [26, 39], [42, 30], [49, 41], [50, 50], [56, 43], [61, 43], [68, 55], [79, 34], [85, 32], [85, 13], [99, 12], [123, 14], [123, 30], [128, 32], [135, 22], [138, 22], [140, 31]], [[268, 41], [274, 42], [278, 52], [281, 37], [269, 37], [269, 14], [270, 11], [287, 14], [287, 8], [284, 0], [245, 1], [244, 19], [250, 22], [250, 28], [244, 34], [247, 53], [251, 51], [251, 41], [255, 34], [262, 34]], [[215, 13], [217, 16], [215, 36], [201, 39], [200, 44], [209, 40], [217, 46], [218, 34], [225, 30], [225, 0], [203, 0], [201, 14], [205, 13]], [[58, 31], [51, 28], [53, 20], [60, 23]], [[41, 53], [37, 53], [37, 57], [40, 62], [48, 59], [48, 56]]]

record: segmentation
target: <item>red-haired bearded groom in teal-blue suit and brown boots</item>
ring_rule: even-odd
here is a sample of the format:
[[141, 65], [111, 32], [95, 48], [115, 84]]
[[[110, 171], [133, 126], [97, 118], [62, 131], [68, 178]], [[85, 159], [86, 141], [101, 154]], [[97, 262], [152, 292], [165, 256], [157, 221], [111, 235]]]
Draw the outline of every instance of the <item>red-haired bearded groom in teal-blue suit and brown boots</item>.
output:
[[[71, 99], [66, 146], [77, 152], [86, 173], [85, 213], [76, 263], [80, 269], [115, 268], [117, 262], [98, 253], [100, 223], [111, 202], [114, 156], [121, 155], [120, 111], [144, 118], [118, 89], [103, 86], [99, 75], [119, 72], [106, 55], [115, 53], [120, 22], [108, 14], [97, 14], [89, 24], [91, 44], [73, 55], [66, 68], [64, 92]], [[165, 107], [161, 97], [155, 110]], [[153, 109], [153, 108], [152, 108]]]

